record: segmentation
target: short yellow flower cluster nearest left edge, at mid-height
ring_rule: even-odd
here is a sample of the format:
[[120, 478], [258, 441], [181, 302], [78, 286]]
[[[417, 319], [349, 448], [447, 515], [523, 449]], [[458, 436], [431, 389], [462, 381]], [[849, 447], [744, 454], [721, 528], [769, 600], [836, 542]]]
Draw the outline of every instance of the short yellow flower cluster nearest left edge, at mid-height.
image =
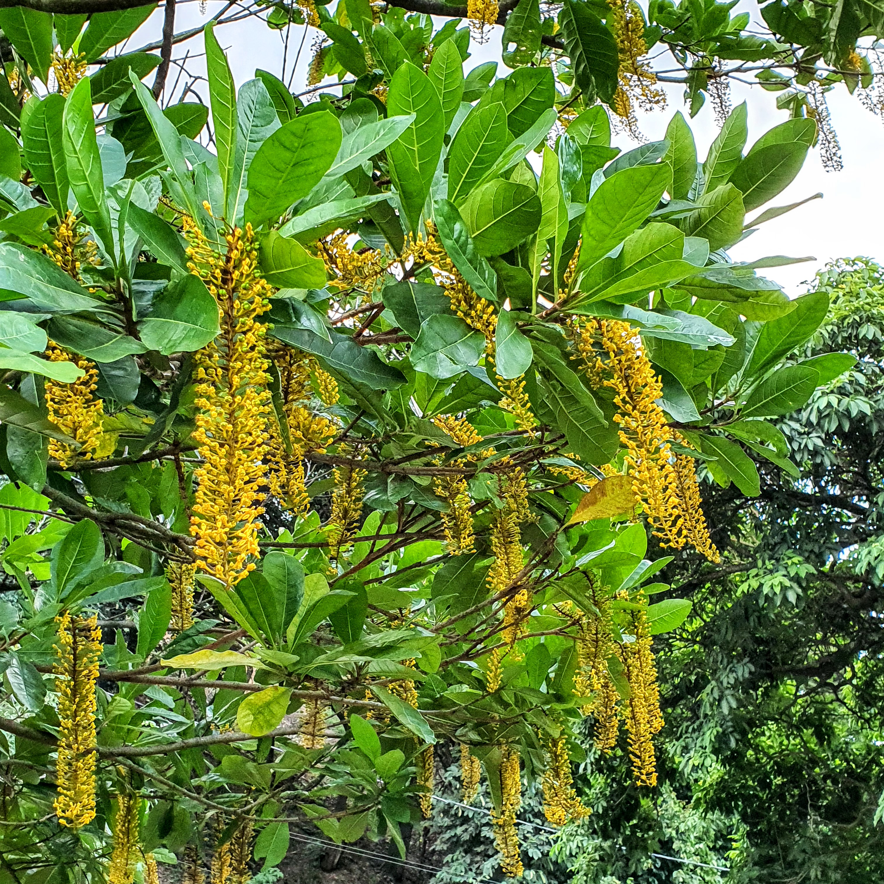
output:
[[65, 436], [70, 436], [80, 443], [78, 449], [66, 442], [50, 439], [50, 457], [66, 467], [77, 457], [90, 459], [102, 435], [104, 404], [95, 396], [98, 370], [95, 368], [95, 363], [89, 362], [85, 356], [68, 353], [52, 341], [46, 349], [46, 354], [50, 362], [73, 362], [84, 372], [83, 376], [72, 384], [62, 384], [47, 377], [43, 386], [50, 422], [65, 433]]

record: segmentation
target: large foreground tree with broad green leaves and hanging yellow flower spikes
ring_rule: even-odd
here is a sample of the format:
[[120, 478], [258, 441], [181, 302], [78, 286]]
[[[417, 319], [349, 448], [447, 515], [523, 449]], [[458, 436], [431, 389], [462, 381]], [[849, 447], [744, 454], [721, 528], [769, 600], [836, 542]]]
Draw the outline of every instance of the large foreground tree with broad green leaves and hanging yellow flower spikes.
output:
[[586, 715], [656, 782], [652, 636], [690, 601], [651, 603], [643, 521], [718, 561], [696, 461], [750, 497], [743, 446], [789, 469], [769, 419], [831, 368], [778, 366], [827, 299], [726, 249], [816, 126], [743, 156], [741, 105], [703, 164], [681, 114], [622, 155], [600, 105], [553, 139], [549, 70], [465, 78], [425, 27], [371, 30], [384, 101], [303, 109], [266, 72], [237, 90], [207, 27], [214, 152], [131, 60], [56, 62], [27, 174], [7, 133], [4, 880], [174, 853], [241, 881], [310, 822], [404, 854], [443, 740], [517, 876], [523, 773], [554, 825], [585, 815]]

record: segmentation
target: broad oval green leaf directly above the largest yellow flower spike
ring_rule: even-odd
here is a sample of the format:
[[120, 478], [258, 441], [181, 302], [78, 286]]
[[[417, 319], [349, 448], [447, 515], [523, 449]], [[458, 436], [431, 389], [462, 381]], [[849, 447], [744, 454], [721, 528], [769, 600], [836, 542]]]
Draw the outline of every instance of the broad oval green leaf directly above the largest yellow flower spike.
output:
[[293, 119], [263, 142], [248, 170], [246, 218], [260, 225], [279, 217], [316, 187], [341, 143], [331, 113]]

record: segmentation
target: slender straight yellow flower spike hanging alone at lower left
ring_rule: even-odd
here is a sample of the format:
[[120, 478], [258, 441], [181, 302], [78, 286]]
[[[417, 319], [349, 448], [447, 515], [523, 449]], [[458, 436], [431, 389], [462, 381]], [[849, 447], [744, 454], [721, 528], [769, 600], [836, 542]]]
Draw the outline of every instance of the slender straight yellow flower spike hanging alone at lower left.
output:
[[58, 760], [55, 812], [74, 829], [95, 819], [95, 682], [103, 650], [95, 615], [56, 618]]

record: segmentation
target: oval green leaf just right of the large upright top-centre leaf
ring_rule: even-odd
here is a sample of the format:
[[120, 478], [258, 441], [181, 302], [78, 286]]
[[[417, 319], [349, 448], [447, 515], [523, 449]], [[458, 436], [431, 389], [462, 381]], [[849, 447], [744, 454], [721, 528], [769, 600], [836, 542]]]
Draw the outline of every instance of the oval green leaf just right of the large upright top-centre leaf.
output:
[[448, 199], [454, 205], [469, 196], [499, 160], [509, 141], [503, 104], [486, 104], [469, 114], [448, 151]]

